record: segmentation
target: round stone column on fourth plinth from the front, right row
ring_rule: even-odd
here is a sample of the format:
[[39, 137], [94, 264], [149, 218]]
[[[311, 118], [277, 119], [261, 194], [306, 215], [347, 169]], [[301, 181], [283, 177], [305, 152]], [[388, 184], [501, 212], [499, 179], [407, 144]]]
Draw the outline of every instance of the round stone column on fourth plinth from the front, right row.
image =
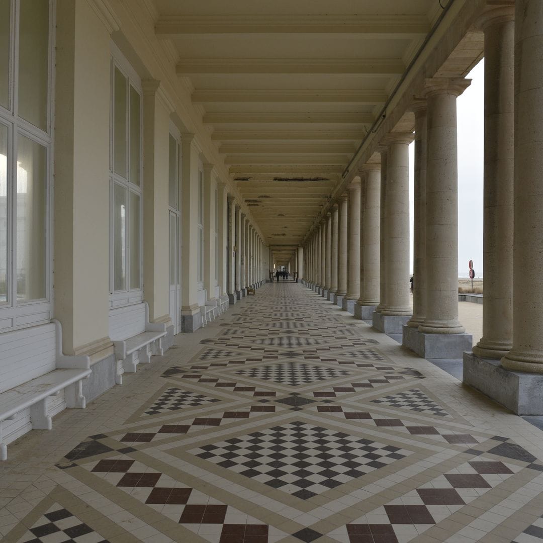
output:
[[362, 171], [360, 297], [355, 305], [355, 318], [369, 320], [379, 303], [381, 164], [365, 164]]

